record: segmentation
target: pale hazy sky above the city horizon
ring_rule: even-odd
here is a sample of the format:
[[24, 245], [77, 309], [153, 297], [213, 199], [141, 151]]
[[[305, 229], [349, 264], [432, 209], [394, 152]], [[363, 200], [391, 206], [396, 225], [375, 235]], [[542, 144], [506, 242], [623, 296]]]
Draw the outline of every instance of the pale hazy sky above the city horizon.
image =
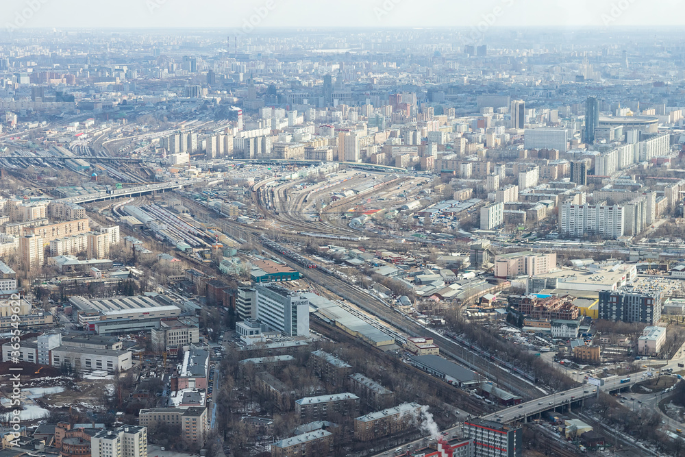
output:
[[[257, 16], [262, 12], [262, 16]], [[1, 0], [23, 27], [685, 25], [684, 0]]]

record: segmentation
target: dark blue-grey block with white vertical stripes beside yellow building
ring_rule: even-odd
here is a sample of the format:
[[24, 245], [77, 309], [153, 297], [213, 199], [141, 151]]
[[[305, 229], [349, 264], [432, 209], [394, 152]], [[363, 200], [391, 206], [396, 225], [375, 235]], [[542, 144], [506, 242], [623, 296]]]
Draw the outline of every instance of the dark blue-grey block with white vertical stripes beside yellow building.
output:
[[656, 325], [661, 319], [661, 293], [623, 286], [599, 292], [599, 319]]

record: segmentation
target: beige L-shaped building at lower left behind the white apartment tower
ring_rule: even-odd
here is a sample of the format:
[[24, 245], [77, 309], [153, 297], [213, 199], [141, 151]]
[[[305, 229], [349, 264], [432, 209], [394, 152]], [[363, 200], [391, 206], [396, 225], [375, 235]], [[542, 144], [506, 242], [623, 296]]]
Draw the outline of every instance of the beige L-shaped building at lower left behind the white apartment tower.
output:
[[139, 418], [140, 425], [147, 428], [161, 424], [179, 427], [181, 439], [190, 447], [201, 447], [207, 439], [209, 423], [203, 406], [142, 409]]

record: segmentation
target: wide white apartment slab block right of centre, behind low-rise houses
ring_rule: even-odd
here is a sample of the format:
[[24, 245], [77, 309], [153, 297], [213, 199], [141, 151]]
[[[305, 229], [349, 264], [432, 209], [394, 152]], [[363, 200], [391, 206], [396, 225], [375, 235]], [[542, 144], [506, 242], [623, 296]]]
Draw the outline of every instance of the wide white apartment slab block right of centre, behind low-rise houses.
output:
[[598, 236], [613, 240], [623, 236], [624, 219], [623, 206], [563, 203], [559, 208], [559, 234], [567, 238]]

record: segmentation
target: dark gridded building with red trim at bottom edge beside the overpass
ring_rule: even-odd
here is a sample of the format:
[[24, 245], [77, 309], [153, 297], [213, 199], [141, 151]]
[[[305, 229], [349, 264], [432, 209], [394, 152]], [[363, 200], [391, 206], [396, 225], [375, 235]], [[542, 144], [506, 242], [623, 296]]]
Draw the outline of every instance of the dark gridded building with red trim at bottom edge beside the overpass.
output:
[[464, 421], [464, 438], [473, 440], [474, 457], [523, 457], [523, 430], [484, 419]]

